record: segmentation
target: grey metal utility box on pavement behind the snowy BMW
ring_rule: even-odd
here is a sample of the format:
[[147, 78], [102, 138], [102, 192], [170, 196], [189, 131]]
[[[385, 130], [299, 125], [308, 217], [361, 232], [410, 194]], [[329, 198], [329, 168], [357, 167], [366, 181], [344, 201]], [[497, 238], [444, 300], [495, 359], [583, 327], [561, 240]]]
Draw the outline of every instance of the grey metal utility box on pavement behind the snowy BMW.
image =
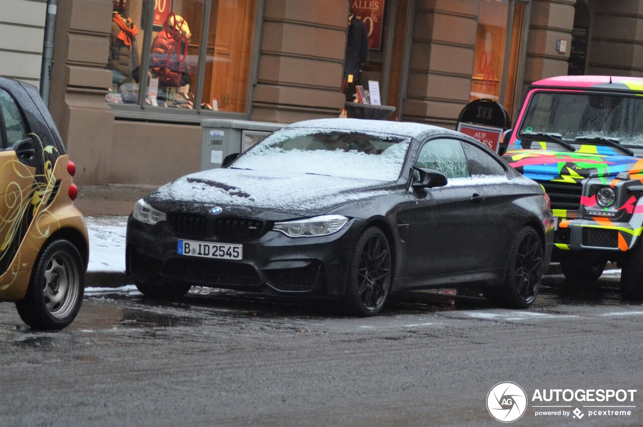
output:
[[281, 123], [232, 119], [201, 121], [201, 170], [221, 168], [227, 155], [248, 150], [284, 126]]

